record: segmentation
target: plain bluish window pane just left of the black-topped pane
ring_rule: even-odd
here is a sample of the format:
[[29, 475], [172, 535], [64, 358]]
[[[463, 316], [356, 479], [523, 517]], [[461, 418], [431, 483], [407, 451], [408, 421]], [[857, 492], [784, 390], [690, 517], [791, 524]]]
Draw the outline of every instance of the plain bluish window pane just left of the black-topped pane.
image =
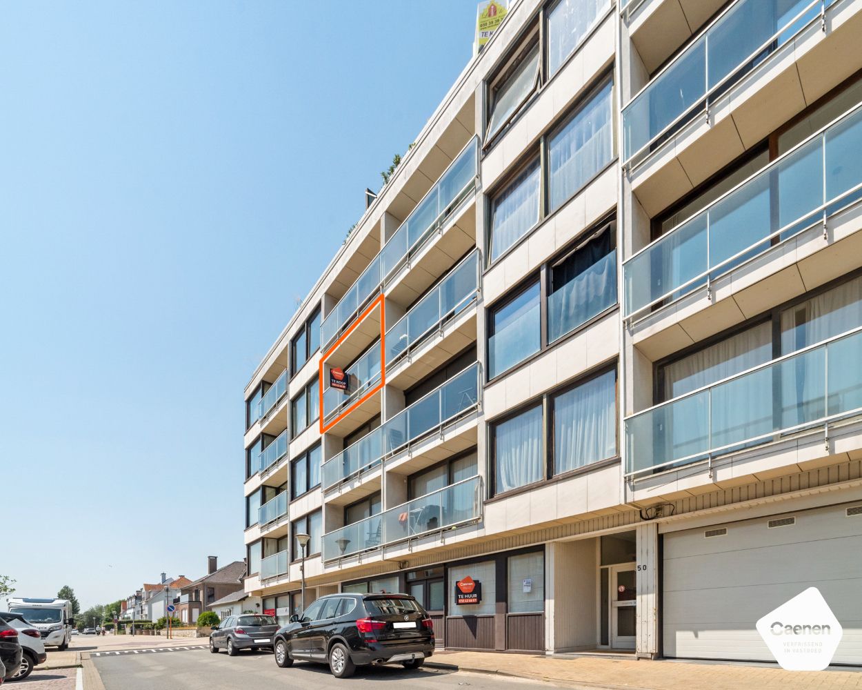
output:
[[491, 315], [488, 338], [488, 371], [491, 377], [526, 360], [541, 347], [539, 284], [511, 300]]

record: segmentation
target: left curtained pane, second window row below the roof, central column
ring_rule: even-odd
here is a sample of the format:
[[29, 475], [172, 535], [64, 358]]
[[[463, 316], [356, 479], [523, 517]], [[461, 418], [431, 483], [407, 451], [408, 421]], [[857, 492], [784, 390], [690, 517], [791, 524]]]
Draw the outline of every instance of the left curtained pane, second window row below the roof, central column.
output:
[[539, 220], [539, 178], [539, 159], [536, 159], [491, 201], [492, 261], [526, 235]]

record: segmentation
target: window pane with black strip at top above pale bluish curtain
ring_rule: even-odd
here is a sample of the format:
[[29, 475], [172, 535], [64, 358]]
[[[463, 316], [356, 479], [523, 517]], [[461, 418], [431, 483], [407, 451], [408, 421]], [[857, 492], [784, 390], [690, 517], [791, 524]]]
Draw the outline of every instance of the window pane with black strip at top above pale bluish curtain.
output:
[[547, 340], [554, 342], [616, 304], [613, 235], [603, 232], [551, 267]]

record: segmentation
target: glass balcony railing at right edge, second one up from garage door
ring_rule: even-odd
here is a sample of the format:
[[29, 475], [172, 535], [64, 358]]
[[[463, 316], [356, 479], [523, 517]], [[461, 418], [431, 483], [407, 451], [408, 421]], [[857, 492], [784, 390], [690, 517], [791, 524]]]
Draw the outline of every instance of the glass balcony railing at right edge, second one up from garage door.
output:
[[862, 198], [862, 105], [623, 264], [626, 316], [709, 285]]

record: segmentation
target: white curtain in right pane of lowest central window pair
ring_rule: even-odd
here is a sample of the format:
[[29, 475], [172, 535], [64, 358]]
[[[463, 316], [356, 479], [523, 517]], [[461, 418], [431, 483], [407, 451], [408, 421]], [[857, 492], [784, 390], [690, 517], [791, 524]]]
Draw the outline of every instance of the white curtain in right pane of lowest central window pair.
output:
[[616, 373], [553, 400], [554, 474], [616, 455]]

